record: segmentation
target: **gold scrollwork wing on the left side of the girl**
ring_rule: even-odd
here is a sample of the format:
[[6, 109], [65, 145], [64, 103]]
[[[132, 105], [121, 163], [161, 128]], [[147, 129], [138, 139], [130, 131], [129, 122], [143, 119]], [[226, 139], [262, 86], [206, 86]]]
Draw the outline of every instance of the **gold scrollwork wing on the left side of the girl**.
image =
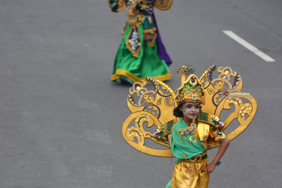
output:
[[[145, 131], [143, 124], [144, 122], [147, 122], [147, 128], [152, 126], [158, 127], [165, 122], [174, 119], [175, 117], [173, 116], [172, 111], [175, 108], [175, 94], [173, 90], [162, 81], [152, 77], [146, 77], [146, 79], [147, 82], [135, 82], [127, 93], [127, 106], [132, 114], [124, 121], [122, 134], [125, 141], [140, 152], [153, 156], [171, 157], [170, 149], [155, 149], [145, 145], [144, 141], [145, 138], [147, 138], [160, 145], [170, 147], [168, 140], [164, 138], [156, 138], [153, 136], [152, 132]], [[153, 87], [151, 88], [153, 89], [147, 89], [147, 83], [152, 84]], [[161, 111], [161, 109], [165, 110]], [[147, 116], [150, 117], [149, 121], [146, 120]], [[142, 119], [144, 117], [145, 120]], [[135, 121], [134, 129], [129, 126], [132, 121]], [[138, 131], [135, 127], [138, 128]], [[142, 135], [140, 135], [141, 132]], [[138, 143], [134, 142], [136, 137]]]

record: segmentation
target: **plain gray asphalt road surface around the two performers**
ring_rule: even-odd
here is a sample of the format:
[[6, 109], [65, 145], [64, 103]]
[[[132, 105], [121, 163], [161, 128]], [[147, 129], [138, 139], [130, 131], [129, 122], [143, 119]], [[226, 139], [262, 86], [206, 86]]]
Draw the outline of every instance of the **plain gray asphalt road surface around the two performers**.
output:
[[[251, 93], [257, 114], [211, 174], [211, 188], [282, 187], [281, 7], [279, 0], [175, 0], [155, 11], [172, 73], [193, 64], [200, 76], [217, 63], [241, 73], [244, 91], [262, 89]], [[125, 19], [106, 0], [0, 1], [1, 188], [166, 186], [171, 159], [142, 154], [121, 135], [130, 86], [109, 79]], [[176, 89], [180, 79], [173, 74], [167, 83]]]

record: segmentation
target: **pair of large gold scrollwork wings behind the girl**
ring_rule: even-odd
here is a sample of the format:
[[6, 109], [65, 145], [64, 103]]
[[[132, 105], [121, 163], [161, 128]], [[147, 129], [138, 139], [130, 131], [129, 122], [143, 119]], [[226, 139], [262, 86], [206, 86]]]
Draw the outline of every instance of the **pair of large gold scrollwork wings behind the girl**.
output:
[[[215, 69], [216, 65], [211, 66], [199, 79], [204, 87], [206, 98], [206, 105], [203, 105], [202, 111], [219, 117], [222, 110], [232, 111], [233, 109], [233, 112], [229, 113], [224, 120], [224, 129], [234, 119], [239, 122], [233, 131], [226, 134], [229, 140], [233, 140], [251, 123], [257, 110], [257, 102], [253, 96], [241, 91], [243, 82], [239, 73], [233, 72], [230, 67], [219, 67], [217, 69], [219, 76], [213, 78]], [[194, 67], [191, 65], [183, 66], [178, 70], [179, 77], [182, 76], [182, 82], [193, 72]], [[131, 114], [122, 125], [124, 140], [142, 153], [171, 157], [169, 141], [165, 137], [154, 136], [153, 132], [168, 121], [179, 120], [172, 114], [176, 107], [174, 98], [173, 90], [156, 78], [146, 77], [146, 81], [142, 83], [135, 82], [127, 93], [127, 106]], [[208, 149], [218, 146], [219, 143], [215, 143]]]

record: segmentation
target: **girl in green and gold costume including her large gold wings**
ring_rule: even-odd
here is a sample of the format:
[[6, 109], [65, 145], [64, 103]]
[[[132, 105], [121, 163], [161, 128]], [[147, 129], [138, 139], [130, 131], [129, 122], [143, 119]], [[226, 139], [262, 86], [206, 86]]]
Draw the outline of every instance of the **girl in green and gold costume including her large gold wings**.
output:
[[[238, 94], [243, 80], [230, 67], [212, 65], [200, 79], [193, 72], [192, 66], [178, 70], [182, 85], [175, 92], [164, 82], [146, 77], [146, 81], [135, 82], [127, 93], [131, 114], [122, 125], [125, 141], [145, 154], [177, 158], [166, 188], [208, 187], [209, 174], [221, 163], [229, 140], [248, 127], [257, 110], [253, 96]], [[147, 88], [147, 83], [153, 89]], [[224, 123], [217, 117], [223, 109], [230, 110]], [[223, 130], [235, 119], [238, 125], [225, 135]], [[148, 129], [153, 126], [157, 127], [155, 132]], [[159, 145], [153, 148], [146, 140]], [[208, 164], [207, 150], [218, 146], [216, 156]]]

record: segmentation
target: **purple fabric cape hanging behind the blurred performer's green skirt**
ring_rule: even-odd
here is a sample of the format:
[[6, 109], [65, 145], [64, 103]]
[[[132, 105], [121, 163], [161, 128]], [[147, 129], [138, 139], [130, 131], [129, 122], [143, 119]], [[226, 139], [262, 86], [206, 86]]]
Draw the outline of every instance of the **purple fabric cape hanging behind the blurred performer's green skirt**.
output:
[[156, 29], [157, 29], [157, 45], [158, 45], [158, 56], [160, 57], [160, 59], [166, 61], [166, 64], [169, 66], [171, 65], [172, 61], [168, 55], [168, 53], [166, 52], [166, 48], [164, 47], [164, 44], [162, 43], [162, 38], [160, 36], [160, 33], [158, 32], [158, 26], [157, 26], [157, 21], [155, 18], [155, 14], [152, 14], [153, 18], [154, 18], [154, 23], [156, 25]]

